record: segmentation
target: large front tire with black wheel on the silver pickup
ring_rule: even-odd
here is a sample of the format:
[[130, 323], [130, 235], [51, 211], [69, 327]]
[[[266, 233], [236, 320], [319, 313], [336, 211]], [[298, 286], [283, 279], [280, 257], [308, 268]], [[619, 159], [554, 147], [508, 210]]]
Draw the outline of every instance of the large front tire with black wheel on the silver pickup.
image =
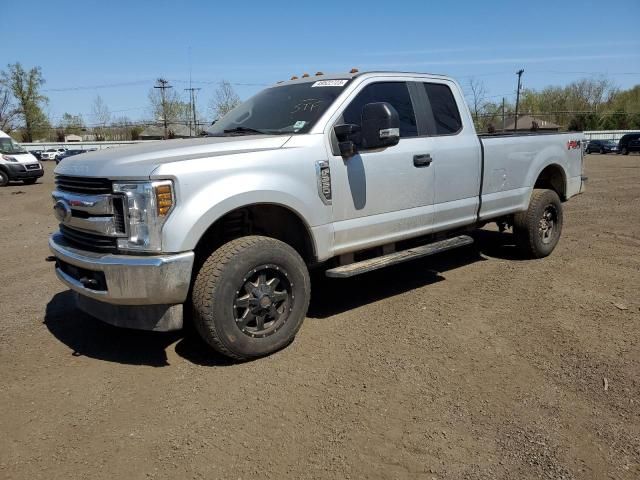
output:
[[193, 321], [219, 353], [235, 360], [262, 357], [293, 341], [310, 290], [307, 266], [289, 245], [269, 237], [238, 238], [214, 251], [198, 271]]

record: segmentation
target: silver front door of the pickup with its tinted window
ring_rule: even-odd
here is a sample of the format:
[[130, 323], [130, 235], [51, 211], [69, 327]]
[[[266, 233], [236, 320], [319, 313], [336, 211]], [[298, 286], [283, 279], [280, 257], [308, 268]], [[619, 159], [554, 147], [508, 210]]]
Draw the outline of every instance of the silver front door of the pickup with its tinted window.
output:
[[414, 88], [412, 82], [372, 79], [354, 94], [338, 119], [337, 124], [360, 125], [364, 105], [388, 102], [400, 117], [400, 141], [360, 150], [350, 158], [330, 154], [336, 254], [431, 229], [435, 176], [427, 157], [430, 140], [418, 136]]

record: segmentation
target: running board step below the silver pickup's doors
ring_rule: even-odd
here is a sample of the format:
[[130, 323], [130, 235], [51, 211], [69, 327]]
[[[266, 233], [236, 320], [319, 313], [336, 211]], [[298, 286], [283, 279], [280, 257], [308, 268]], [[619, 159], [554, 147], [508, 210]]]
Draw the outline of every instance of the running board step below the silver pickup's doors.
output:
[[348, 265], [341, 265], [340, 267], [327, 270], [325, 274], [327, 277], [332, 278], [353, 277], [355, 275], [360, 275], [361, 273], [371, 272], [390, 265], [396, 265], [398, 263], [408, 262], [409, 260], [415, 260], [417, 258], [427, 257], [436, 253], [446, 252], [452, 248], [464, 247], [465, 245], [471, 245], [472, 243], [473, 238], [469, 235], [460, 235], [458, 237], [429, 243], [428, 245], [390, 253], [381, 257], [370, 258], [368, 260], [350, 263]]

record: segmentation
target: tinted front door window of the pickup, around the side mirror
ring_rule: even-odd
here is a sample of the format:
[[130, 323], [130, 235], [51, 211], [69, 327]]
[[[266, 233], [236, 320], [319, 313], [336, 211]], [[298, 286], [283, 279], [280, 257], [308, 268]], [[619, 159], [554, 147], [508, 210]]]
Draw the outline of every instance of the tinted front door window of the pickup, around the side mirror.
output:
[[362, 89], [342, 113], [344, 123], [362, 125], [362, 109], [367, 103], [388, 102], [398, 111], [400, 137], [418, 135], [416, 114], [406, 82], [372, 83]]

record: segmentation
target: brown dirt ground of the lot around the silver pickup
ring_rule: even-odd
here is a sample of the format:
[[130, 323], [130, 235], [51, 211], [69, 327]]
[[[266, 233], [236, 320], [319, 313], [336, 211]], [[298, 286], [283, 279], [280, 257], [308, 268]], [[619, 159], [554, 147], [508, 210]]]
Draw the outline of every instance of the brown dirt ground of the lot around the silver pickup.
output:
[[640, 478], [640, 156], [587, 157], [551, 257], [487, 229], [317, 276], [296, 341], [244, 364], [76, 311], [45, 166], [0, 189], [0, 478]]

